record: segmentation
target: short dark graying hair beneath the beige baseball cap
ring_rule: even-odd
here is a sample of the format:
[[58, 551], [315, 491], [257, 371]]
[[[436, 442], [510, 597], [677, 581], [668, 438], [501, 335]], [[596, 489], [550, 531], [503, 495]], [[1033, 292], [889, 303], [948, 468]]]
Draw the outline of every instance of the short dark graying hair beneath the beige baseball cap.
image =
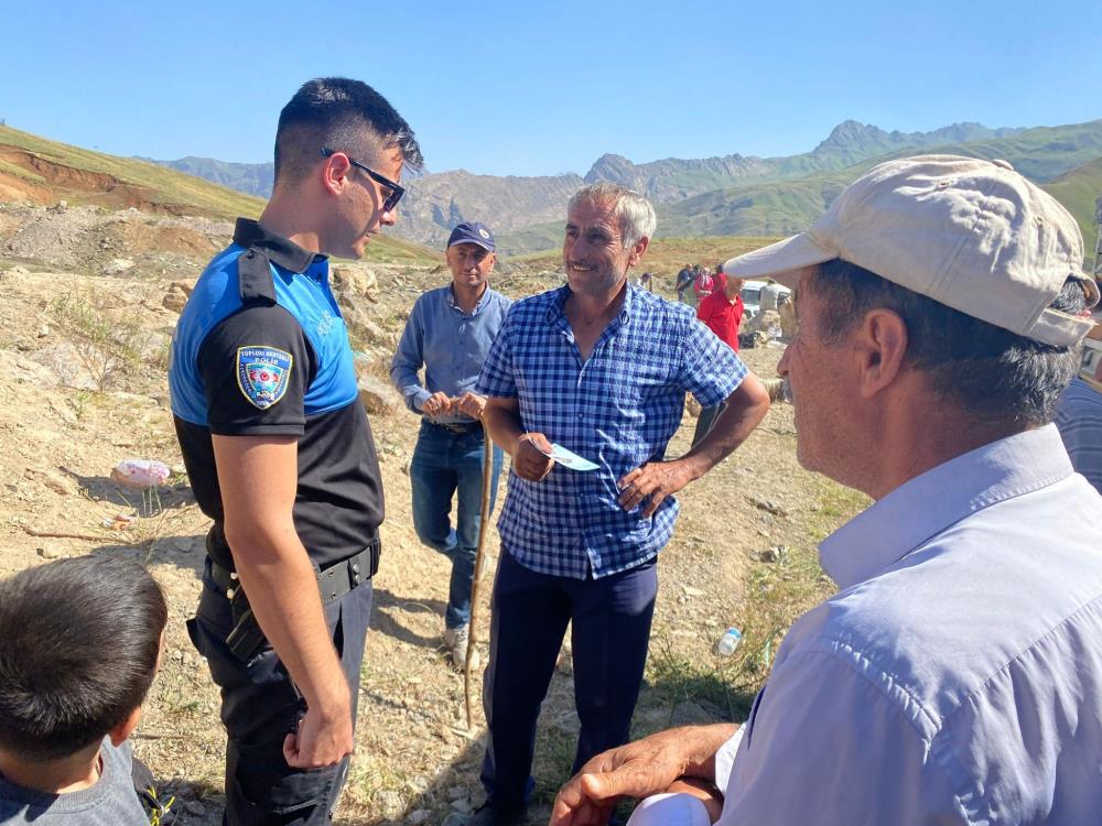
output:
[[[1047, 424], [1079, 367], [1078, 347], [1019, 336], [841, 259], [817, 267], [808, 287], [823, 302], [819, 329], [828, 345], [841, 344], [871, 309], [897, 313], [907, 324], [907, 362], [928, 374], [940, 400], [980, 419]], [[1082, 285], [1069, 278], [1051, 307], [1078, 315], [1085, 304]]]

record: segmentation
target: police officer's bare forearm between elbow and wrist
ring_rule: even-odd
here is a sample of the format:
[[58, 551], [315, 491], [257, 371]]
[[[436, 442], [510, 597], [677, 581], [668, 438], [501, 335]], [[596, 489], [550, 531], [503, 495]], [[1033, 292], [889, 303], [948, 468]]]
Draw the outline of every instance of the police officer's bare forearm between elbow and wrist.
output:
[[249, 606], [306, 703], [343, 711], [349, 703], [317, 577], [293, 526], [230, 539]]

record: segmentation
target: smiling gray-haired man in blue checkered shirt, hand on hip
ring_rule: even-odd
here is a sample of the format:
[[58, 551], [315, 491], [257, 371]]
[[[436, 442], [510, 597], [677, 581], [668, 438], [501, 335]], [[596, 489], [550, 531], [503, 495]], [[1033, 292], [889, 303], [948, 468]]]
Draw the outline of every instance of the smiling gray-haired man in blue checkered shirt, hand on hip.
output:
[[[673, 493], [734, 450], [769, 407], [761, 383], [690, 308], [627, 283], [655, 225], [653, 208], [629, 189], [577, 192], [566, 285], [512, 306], [478, 380], [487, 431], [512, 471], [483, 694], [487, 805], [472, 824], [523, 819], [536, 721], [568, 622], [582, 724], [575, 770], [627, 741]], [[666, 460], [687, 391], [703, 406], [727, 406], [696, 447]], [[596, 469], [555, 464], [552, 444]]]

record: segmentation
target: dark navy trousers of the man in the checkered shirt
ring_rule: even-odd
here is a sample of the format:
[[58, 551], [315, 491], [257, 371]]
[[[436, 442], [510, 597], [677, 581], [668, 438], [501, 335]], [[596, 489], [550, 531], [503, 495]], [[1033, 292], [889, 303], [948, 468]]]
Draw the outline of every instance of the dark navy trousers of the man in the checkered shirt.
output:
[[574, 771], [628, 741], [658, 594], [656, 563], [570, 579], [530, 570], [501, 550], [483, 689], [490, 736], [482, 782], [495, 809], [519, 808], [531, 795], [536, 722], [568, 622], [582, 722]]

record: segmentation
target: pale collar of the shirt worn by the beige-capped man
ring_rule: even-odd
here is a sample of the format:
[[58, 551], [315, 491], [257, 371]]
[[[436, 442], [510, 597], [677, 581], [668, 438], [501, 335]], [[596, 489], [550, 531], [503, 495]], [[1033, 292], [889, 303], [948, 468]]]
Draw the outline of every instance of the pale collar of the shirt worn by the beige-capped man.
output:
[[1055, 424], [1016, 433], [900, 485], [823, 540], [819, 561], [840, 588], [849, 588], [965, 517], [1071, 472]]

